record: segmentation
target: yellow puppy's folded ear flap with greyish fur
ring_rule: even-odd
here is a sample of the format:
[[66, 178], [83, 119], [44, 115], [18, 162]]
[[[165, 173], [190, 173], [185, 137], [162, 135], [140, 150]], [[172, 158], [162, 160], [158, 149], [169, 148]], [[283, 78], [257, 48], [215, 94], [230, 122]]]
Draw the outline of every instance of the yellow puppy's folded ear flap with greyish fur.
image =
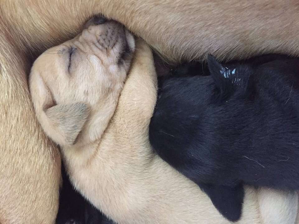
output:
[[44, 110], [45, 131], [59, 145], [73, 145], [90, 113], [88, 105], [76, 102]]

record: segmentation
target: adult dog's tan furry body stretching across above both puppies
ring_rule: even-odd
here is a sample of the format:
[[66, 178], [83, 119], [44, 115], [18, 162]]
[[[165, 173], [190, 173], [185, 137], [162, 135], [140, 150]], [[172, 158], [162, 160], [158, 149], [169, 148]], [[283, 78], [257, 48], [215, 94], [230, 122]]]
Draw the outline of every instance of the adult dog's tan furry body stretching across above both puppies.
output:
[[2, 18], [20, 41], [45, 48], [69, 39], [88, 16], [102, 13], [125, 24], [178, 61], [212, 53], [220, 59], [299, 53], [297, 1], [2, 0]]

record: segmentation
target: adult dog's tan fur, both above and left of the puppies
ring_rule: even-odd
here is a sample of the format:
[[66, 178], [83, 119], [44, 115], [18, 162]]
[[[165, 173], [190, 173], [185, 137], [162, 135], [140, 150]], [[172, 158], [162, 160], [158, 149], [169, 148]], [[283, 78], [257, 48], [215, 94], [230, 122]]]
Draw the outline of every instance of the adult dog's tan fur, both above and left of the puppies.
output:
[[220, 59], [299, 53], [295, 1], [2, 0], [1, 224], [54, 223], [60, 159], [36, 122], [26, 74], [31, 58], [69, 39], [100, 12], [125, 24], [170, 61], [202, 58], [207, 52]]

